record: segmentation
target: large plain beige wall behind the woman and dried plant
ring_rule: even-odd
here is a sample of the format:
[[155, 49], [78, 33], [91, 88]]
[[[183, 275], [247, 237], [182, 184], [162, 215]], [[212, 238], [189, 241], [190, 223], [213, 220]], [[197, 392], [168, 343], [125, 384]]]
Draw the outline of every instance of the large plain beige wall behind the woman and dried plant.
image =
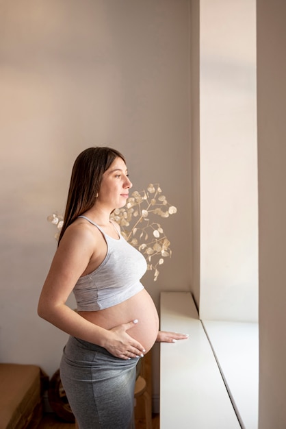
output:
[[133, 188], [159, 182], [178, 208], [161, 222], [172, 258], [144, 277], [155, 303], [190, 289], [189, 20], [188, 0], [1, 2], [0, 361], [59, 365], [66, 335], [36, 314], [56, 245], [46, 219], [91, 145], [122, 151]]

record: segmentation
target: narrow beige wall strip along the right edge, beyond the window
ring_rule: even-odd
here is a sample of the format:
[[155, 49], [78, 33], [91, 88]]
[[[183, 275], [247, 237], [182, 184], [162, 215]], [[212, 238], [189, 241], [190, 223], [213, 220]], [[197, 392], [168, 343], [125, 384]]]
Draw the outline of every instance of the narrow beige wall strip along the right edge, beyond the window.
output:
[[286, 3], [257, 1], [259, 429], [286, 427]]

